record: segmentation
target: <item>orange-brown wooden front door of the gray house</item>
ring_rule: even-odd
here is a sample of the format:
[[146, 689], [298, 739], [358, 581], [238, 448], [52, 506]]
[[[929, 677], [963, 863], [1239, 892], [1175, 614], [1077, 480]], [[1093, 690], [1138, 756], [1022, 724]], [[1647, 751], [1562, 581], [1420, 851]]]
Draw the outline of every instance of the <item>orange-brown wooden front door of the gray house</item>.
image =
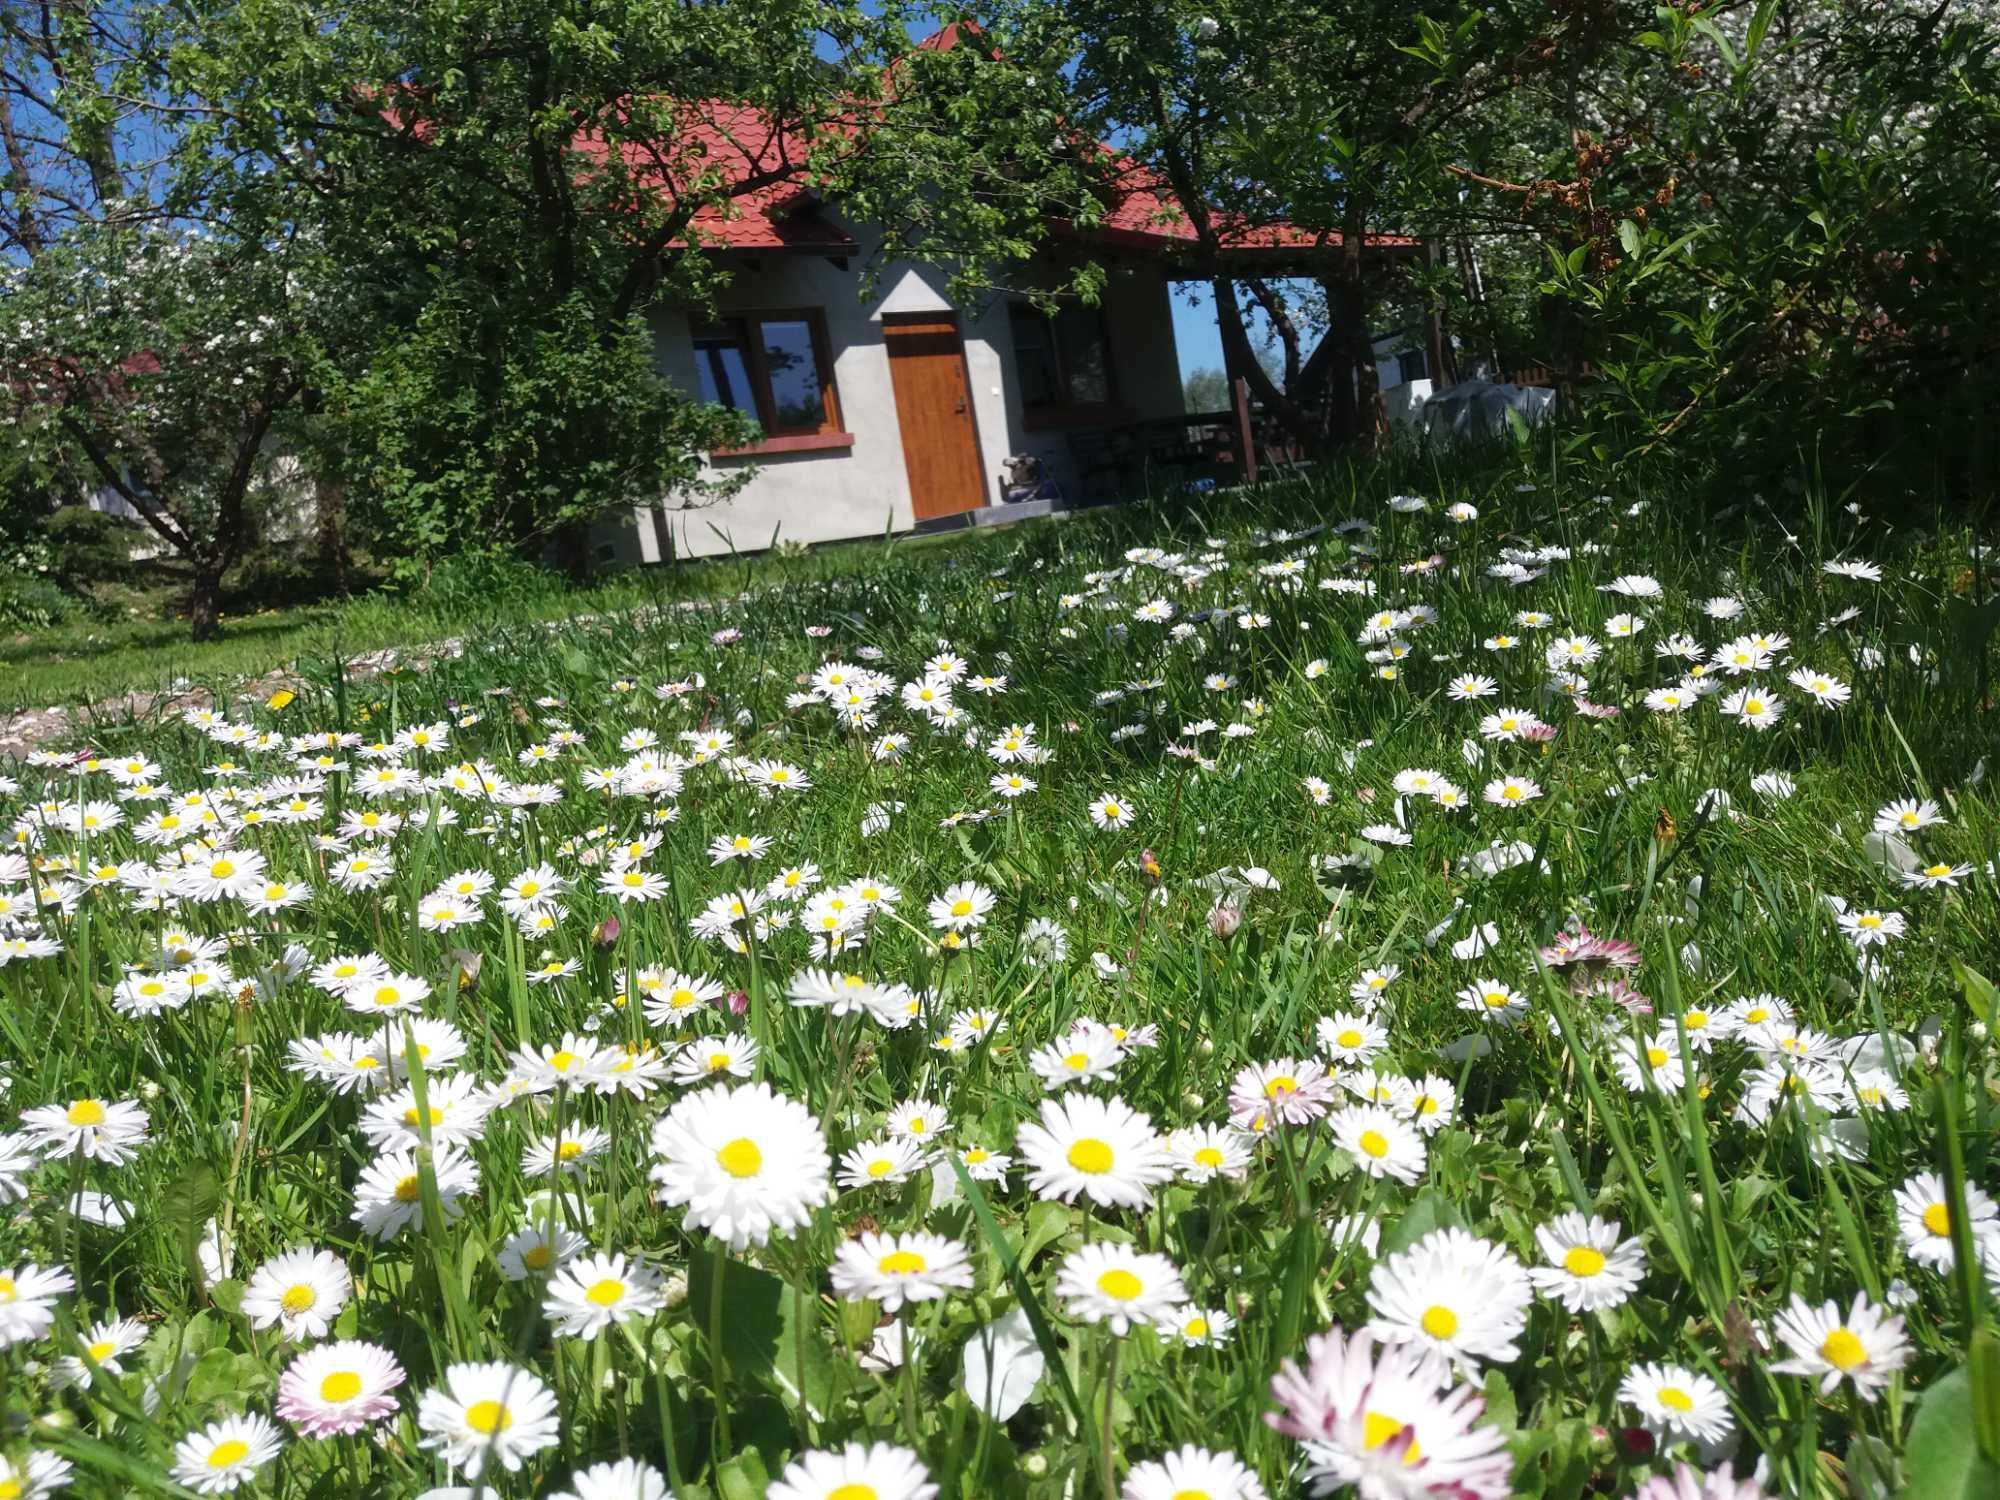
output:
[[918, 520], [986, 504], [980, 438], [972, 426], [972, 380], [956, 312], [886, 312], [882, 340], [896, 386], [902, 464]]

